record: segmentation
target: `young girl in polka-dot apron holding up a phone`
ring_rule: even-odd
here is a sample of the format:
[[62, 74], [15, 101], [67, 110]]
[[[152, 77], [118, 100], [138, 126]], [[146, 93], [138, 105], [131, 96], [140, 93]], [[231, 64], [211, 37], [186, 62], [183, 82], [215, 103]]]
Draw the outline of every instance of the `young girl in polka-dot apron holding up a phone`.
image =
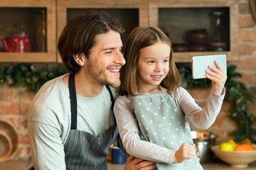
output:
[[158, 28], [135, 28], [124, 47], [120, 94], [114, 104], [124, 148], [134, 157], [157, 162], [158, 169], [203, 169], [191, 130], [207, 129], [220, 112], [227, 76], [218, 62], [208, 66], [212, 80], [202, 109], [181, 87], [169, 38]]

